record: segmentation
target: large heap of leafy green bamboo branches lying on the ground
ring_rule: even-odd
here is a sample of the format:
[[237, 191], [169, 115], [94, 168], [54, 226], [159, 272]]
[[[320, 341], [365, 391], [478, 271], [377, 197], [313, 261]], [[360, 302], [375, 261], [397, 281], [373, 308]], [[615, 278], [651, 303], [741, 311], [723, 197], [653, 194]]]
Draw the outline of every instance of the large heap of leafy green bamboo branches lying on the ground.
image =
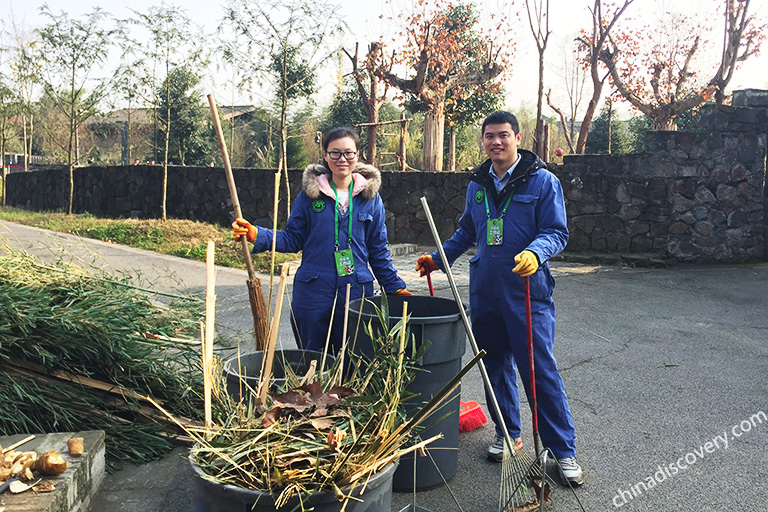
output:
[[[7, 249], [6, 249], [7, 250]], [[127, 276], [0, 257], [0, 432], [104, 430], [110, 463], [167, 454], [202, 412], [196, 333], [201, 303], [165, 304]]]

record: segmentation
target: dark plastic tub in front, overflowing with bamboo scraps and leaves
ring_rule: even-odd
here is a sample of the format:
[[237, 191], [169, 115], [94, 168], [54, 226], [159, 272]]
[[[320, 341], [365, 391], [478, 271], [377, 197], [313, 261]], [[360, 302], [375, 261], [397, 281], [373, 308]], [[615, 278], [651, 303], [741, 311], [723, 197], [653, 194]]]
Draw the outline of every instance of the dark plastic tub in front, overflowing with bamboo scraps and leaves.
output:
[[[275, 496], [270, 493], [244, 489], [235, 485], [213, 482], [206, 478], [205, 473], [190, 458], [195, 472], [195, 512], [273, 512], [302, 510], [299, 498], [294, 497], [279, 509], [275, 506]], [[347, 504], [348, 512], [390, 512], [392, 510], [392, 476], [396, 464], [390, 464], [376, 473], [368, 481], [360, 494], [361, 485], [354, 489], [342, 488], [344, 494], [349, 492], [354, 499]], [[302, 496], [304, 510], [312, 512], [339, 512], [342, 502], [335, 493], [316, 492], [310, 496]]]

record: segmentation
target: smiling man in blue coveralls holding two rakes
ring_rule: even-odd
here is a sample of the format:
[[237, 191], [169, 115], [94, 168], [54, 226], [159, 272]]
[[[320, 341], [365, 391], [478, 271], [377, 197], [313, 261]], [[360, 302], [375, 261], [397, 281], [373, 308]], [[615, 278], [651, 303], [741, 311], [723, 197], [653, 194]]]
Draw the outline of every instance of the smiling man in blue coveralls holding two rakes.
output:
[[[547, 261], [568, 241], [562, 187], [534, 153], [518, 149], [514, 115], [494, 112], [483, 122], [482, 136], [488, 160], [472, 173], [459, 228], [443, 249], [450, 265], [477, 246], [470, 260], [472, 330], [488, 352], [485, 366], [516, 449], [522, 442], [515, 364], [530, 397], [523, 287], [523, 277], [530, 276], [539, 433], [560, 463], [563, 483], [580, 485], [584, 475], [576, 462], [573, 419], [552, 353], [555, 282]], [[419, 257], [416, 270], [424, 275], [443, 264], [435, 252]], [[504, 437], [493, 409], [491, 416], [496, 438], [487, 456], [501, 461]]]

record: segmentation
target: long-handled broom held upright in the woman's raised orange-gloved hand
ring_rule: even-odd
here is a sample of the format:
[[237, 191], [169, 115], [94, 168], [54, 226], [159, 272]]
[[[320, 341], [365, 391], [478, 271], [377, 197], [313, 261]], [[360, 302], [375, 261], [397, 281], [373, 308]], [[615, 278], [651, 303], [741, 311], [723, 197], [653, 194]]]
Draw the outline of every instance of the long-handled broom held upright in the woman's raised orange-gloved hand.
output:
[[[240, 209], [240, 201], [237, 198], [237, 188], [235, 187], [235, 178], [232, 174], [232, 166], [229, 162], [229, 152], [227, 144], [224, 141], [224, 133], [221, 131], [219, 122], [219, 111], [216, 108], [216, 100], [213, 94], [208, 95], [208, 103], [211, 108], [211, 117], [213, 118], [213, 127], [216, 131], [216, 137], [219, 140], [219, 149], [221, 150], [221, 159], [224, 161], [224, 171], [227, 174], [227, 184], [229, 185], [229, 194], [232, 197], [232, 207], [235, 210], [235, 217], [242, 218], [243, 212]], [[267, 340], [267, 304], [264, 301], [264, 290], [261, 288], [261, 281], [256, 277], [251, 261], [251, 251], [248, 247], [248, 240], [240, 237], [240, 243], [243, 249], [243, 258], [245, 266], [248, 268], [248, 300], [251, 303], [251, 314], [253, 314], [253, 331], [256, 336], [256, 348], [263, 350]]]

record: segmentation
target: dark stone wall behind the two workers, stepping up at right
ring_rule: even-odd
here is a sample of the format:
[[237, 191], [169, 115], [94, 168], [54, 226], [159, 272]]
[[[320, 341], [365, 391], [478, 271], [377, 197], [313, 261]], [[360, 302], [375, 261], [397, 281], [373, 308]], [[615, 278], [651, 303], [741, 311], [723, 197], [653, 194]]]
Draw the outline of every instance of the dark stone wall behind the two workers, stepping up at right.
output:
[[[701, 109], [700, 133], [649, 132], [633, 155], [571, 155], [550, 169], [563, 184], [569, 251], [651, 253], [680, 261], [765, 260], [768, 240], [766, 155], [768, 91], [737, 91], [734, 106]], [[243, 214], [271, 226], [274, 173], [235, 169]], [[292, 198], [301, 171], [289, 172]], [[66, 170], [8, 177], [7, 204], [35, 210], [66, 205]], [[464, 208], [468, 174], [382, 172], [381, 195], [392, 243], [433, 246], [420, 198], [443, 238]], [[159, 166], [75, 170], [75, 212], [97, 216], [160, 215]], [[285, 221], [284, 190], [278, 216]], [[223, 169], [170, 167], [168, 215], [228, 225]]]

